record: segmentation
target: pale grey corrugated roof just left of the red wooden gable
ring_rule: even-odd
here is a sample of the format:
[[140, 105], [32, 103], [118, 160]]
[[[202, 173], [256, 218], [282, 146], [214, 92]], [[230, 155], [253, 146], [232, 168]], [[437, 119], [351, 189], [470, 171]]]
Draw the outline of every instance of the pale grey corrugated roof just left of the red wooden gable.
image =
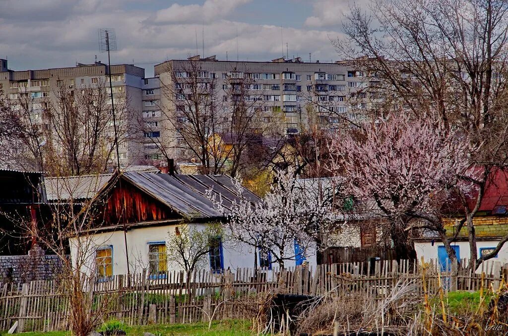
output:
[[47, 177], [44, 179], [47, 200], [92, 198], [112, 176], [113, 174]]

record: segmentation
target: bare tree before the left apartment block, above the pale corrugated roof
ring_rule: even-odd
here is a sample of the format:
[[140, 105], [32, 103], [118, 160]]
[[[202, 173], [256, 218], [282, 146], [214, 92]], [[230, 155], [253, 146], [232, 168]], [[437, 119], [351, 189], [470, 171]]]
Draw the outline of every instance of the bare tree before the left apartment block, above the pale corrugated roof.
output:
[[68, 89], [60, 84], [48, 101], [51, 122], [51, 162], [59, 174], [104, 172], [115, 146], [111, 97], [115, 99], [119, 144], [129, 137], [131, 123], [124, 92], [109, 92], [104, 81], [93, 86]]

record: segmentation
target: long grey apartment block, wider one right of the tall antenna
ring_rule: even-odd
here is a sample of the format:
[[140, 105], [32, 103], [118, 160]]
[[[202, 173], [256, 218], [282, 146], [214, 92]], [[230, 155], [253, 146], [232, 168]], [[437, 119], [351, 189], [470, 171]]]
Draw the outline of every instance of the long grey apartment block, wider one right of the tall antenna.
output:
[[[184, 82], [184, 78], [188, 77], [185, 71], [191, 68], [198, 69], [198, 77], [202, 78], [204, 85], [213, 82], [216, 98], [225, 102], [231, 85], [240, 85], [242, 80], [248, 79], [252, 95], [247, 93], [243, 99], [262, 100], [259, 105], [268, 113], [267, 122], [272, 121], [270, 113], [281, 115], [279, 120], [284, 121], [288, 135], [299, 133], [310, 122], [333, 129], [338, 128], [344, 118], [358, 121], [366, 117], [369, 80], [364, 73], [345, 64], [303, 62], [301, 58], [254, 62], [193, 56], [157, 64], [154, 73], [160, 79], [163, 90], [175, 85], [180, 87], [174, 82], [180, 78]], [[158, 102], [163, 109], [178, 108], [178, 97], [168, 97], [167, 92], [159, 92], [157, 99], [160, 99]], [[186, 92], [185, 87], [181, 87], [181, 94]], [[312, 116], [309, 107], [312, 107]], [[156, 132], [152, 136], [174, 137], [175, 143], [178, 141], [176, 130], [173, 134]]]

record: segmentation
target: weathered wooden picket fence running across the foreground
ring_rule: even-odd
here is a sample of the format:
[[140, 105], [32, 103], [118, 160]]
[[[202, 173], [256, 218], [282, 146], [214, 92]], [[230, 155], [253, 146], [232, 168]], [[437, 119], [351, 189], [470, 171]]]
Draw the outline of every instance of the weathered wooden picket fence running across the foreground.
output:
[[[463, 265], [465, 262], [462, 261]], [[482, 265], [483, 275], [455, 269], [441, 272], [436, 260], [426, 263], [425, 269], [430, 294], [438, 293], [439, 281], [450, 290], [478, 290], [491, 285], [497, 288], [508, 275], [508, 265], [495, 261]], [[252, 306], [257, 309], [252, 298], [267, 292], [356, 293], [378, 300], [397, 286], [413, 284], [413, 295], [423, 293], [422, 265], [409, 260], [318, 265], [314, 270], [305, 266], [258, 272], [252, 268], [223, 273], [202, 270], [188, 280], [183, 272], [153, 277], [143, 271], [130, 277], [117, 275], [94, 282], [89, 291], [94, 307], [101, 304], [107, 307], [104, 320], [117, 319], [130, 325], [248, 318], [252, 317]], [[9, 329], [17, 321], [17, 331], [67, 330], [69, 296], [61, 284], [57, 280], [3, 284], [0, 329]]]

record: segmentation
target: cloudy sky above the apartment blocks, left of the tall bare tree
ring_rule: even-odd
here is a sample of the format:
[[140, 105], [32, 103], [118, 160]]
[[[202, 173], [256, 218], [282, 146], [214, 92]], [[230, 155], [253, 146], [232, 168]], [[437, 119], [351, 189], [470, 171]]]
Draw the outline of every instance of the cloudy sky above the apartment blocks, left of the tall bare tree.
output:
[[308, 61], [311, 53], [312, 61], [335, 61], [331, 40], [341, 37], [348, 1], [0, 0], [0, 58], [18, 71], [93, 63], [96, 55], [106, 62], [98, 29], [114, 28], [111, 62], [134, 63], [147, 77], [156, 63], [195, 55], [196, 40], [198, 54], [204, 42], [204, 56], [218, 59]]

